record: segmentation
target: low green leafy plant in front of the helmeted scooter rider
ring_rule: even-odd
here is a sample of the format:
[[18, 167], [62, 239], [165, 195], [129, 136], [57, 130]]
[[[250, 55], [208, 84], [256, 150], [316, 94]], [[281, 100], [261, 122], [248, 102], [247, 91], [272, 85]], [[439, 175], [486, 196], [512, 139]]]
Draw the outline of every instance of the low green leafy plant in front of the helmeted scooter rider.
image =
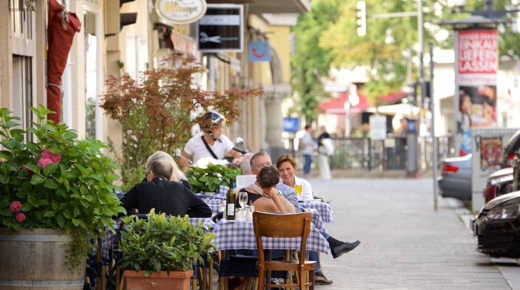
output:
[[236, 179], [240, 168], [229, 168], [219, 164], [208, 164], [206, 168], [190, 167], [186, 177], [193, 192], [219, 192], [220, 185], [229, 186], [229, 179]]

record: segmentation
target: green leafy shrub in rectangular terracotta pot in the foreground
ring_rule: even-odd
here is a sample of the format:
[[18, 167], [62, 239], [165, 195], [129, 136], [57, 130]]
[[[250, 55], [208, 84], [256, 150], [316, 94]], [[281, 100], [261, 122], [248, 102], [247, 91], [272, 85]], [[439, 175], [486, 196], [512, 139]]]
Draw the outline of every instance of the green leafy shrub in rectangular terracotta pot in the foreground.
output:
[[[126, 289], [170, 289], [183, 285], [189, 289], [193, 264], [204, 254], [216, 250], [215, 234], [191, 225], [188, 216], [170, 217], [152, 208], [146, 219], [129, 216], [123, 219], [127, 231], [122, 232], [121, 267]], [[180, 281], [179, 281], [180, 280]]]

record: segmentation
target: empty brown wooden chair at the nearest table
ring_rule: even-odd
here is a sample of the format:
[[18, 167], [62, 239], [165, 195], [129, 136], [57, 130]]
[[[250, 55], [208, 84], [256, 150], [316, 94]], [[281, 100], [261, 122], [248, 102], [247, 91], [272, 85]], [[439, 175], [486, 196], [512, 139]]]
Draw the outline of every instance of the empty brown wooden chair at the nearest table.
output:
[[[258, 283], [257, 289], [263, 290], [266, 287], [299, 287], [301, 290], [307, 286], [314, 290], [314, 270], [316, 261], [305, 260], [305, 248], [307, 246], [307, 236], [310, 234], [310, 213], [300, 214], [269, 214], [253, 212], [253, 229], [256, 238], [256, 248], [258, 251]], [[297, 260], [265, 260], [264, 246], [262, 237], [270, 238], [301, 238], [299, 249], [300, 257]], [[298, 273], [300, 279], [298, 284], [284, 280], [284, 284], [266, 284], [266, 271], [290, 271]], [[309, 282], [305, 277], [308, 272]], [[290, 283], [288, 283], [290, 282]]]

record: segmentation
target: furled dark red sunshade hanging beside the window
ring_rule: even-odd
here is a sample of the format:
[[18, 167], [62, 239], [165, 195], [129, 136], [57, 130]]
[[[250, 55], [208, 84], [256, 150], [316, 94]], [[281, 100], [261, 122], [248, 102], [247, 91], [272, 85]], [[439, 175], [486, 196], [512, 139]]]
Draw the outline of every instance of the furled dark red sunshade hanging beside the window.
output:
[[56, 114], [49, 114], [49, 120], [60, 122], [61, 75], [67, 64], [74, 34], [81, 31], [81, 22], [75, 13], [67, 12], [56, 0], [49, 1], [47, 25], [47, 108]]

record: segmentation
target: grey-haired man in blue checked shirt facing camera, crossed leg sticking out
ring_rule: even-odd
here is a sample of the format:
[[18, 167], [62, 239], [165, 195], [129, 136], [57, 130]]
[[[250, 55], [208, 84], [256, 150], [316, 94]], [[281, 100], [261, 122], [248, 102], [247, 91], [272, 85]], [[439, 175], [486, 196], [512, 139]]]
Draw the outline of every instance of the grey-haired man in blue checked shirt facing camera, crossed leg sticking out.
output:
[[[246, 160], [246, 159], [250, 159], [250, 168], [248, 168], [244, 164], [244, 160]], [[241, 165], [242, 164], [244, 164], [244, 168], [242, 168], [242, 166], [241, 166], [242, 174], [246, 174], [245, 172], [247, 172], [248, 169], [251, 169], [252, 174], [256, 174], [257, 170], [261, 169], [262, 167], [264, 167], [266, 165], [271, 165], [272, 162], [271, 162], [271, 157], [269, 156], [269, 154], [267, 154], [267, 152], [261, 151], [261, 152], [255, 153], [253, 155], [250, 155], [249, 153], [246, 154], [244, 156], [244, 159], [242, 160]], [[289, 196], [289, 197], [286, 197], [286, 198], [296, 208], [297, 212], [301, 212], [300, 204], [298, 204], [298, 197], [297, 197], [296, 191], [293, 188], [286, 186], [285, 184], [281, 184], [281, 183], [279, 183], [278, 186], [275, 188], [283, 189], [283, 190], [280, 190], [280, 192], [284, 196], [286, 196], [286, 194], [287, 194], [287, 196]], [[359, 245], [359, 241], [356, 241], [354, 243], [347, 243], [347, 242], [342, 242], [342, 241], [336, 240], [332, 236], [330, 236], [330, 234], [327, 232], [326, 229], [324, 229], [324, 231], [320, 231], [320, 233], [329, 242], [332, 257], [334, 259], [345, 253], [352, 251], [355, 247], [357, 247]], [[317, 262], [316, 273], [315, 273], [315, 282], [320, 283], [320, 284], [331, 284], [332, 280], [327, 279], [321, 273], [321, 265], [320, 265], [320, 261], [319, 261], [318, 257], [319, 257], [318, 253], [316, 253], [314, 251], [309, 251], [309, 260], [313, 260], [313, 261]]]

